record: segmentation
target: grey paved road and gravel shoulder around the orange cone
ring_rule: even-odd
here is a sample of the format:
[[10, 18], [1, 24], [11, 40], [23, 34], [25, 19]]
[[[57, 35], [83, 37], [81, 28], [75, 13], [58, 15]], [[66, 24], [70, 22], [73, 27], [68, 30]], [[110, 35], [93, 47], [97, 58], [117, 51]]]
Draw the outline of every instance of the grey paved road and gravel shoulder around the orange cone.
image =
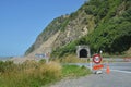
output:
[[[85, 63], [76, 64], [90, 65]], [[75, 79], [62, 79], [50, 87], [131, 87], [131, 62], [109, 63], [109, 74], [106, 74], [104, 69], [103, 74], [92, 74]]]

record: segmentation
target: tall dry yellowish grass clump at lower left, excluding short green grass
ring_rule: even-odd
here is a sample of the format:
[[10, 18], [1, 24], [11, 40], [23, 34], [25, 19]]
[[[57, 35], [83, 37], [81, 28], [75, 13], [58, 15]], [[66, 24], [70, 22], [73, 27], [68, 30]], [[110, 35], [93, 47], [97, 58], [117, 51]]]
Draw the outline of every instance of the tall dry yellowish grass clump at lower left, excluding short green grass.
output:
[[61, 65], [56, 62], [27, 61], [8, 70], [1, 72], [0, 87], [40, 87], [61, 78]]

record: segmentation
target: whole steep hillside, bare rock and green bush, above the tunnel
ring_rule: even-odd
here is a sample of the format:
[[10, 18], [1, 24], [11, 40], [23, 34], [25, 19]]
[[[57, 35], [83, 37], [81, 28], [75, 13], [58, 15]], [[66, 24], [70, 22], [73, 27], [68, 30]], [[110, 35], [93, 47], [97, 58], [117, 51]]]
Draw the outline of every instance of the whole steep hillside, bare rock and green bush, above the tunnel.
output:
[[53, 55], [73, 53], [76, 45], [90, 45], [92, 52], [123, 53], [131, 47], [131, 1], [85, 2], [76, 12], [55, 18], [25, 54], [46, 50], [44, 45], [56, 34], [48, 46]]

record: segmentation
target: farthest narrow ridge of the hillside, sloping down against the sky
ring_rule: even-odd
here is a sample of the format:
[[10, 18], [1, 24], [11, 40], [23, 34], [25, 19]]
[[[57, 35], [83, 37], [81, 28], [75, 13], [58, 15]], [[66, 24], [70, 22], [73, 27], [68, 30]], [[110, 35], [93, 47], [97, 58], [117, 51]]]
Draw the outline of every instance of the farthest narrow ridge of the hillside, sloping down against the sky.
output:
[[38, 49], [45, 41], [47, 41], [50, 37], [52, 37], [55, 34], [57, 34], [60, 29], [62, 29], [61, 23], [63, 23], [68, 18], [67, 16], [60, 16], [55, 18], [44, 30], [39, 36], [37, 37], [35, 44], [33, 44], [29, 49], [25, 52], [25, 54], [29, 54], [31, 52]]

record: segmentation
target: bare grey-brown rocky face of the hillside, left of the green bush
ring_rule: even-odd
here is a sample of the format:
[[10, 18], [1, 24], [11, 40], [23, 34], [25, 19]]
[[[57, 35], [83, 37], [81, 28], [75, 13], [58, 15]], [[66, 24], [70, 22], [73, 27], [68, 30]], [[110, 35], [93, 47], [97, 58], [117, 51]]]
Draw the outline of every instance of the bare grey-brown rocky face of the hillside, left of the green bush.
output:
[[35, 44], [33, 44], [25, 52], [25, 55], [39, 49], [44, 42], [48, 41], [48, 39], [58, 32], [58, 37], [56, 37], [56, 40], [53, 40], [51, 46], [49, 46], [52, 50], [56, 50], [57, 48], [91, 33], [94, 29], [94, 17], [92, 15], [86, 15], [83, 10], [78, 10], [70, 15], [62, 15], [57, 17], [37, 37]]

